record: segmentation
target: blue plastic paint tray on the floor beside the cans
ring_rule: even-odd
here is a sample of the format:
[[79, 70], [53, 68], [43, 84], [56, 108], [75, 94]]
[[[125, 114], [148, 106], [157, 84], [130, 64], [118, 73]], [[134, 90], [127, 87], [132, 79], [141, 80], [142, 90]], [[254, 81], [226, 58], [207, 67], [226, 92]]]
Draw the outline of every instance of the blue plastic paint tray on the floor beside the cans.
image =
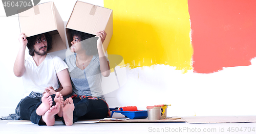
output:
[[139, 110], [139, 111], [112, 111], [111, 118], [114, 113], [121, 113], [127, 118], [130, 119], [143, 119], [147, 118], [147, 111], [146, 110]]

